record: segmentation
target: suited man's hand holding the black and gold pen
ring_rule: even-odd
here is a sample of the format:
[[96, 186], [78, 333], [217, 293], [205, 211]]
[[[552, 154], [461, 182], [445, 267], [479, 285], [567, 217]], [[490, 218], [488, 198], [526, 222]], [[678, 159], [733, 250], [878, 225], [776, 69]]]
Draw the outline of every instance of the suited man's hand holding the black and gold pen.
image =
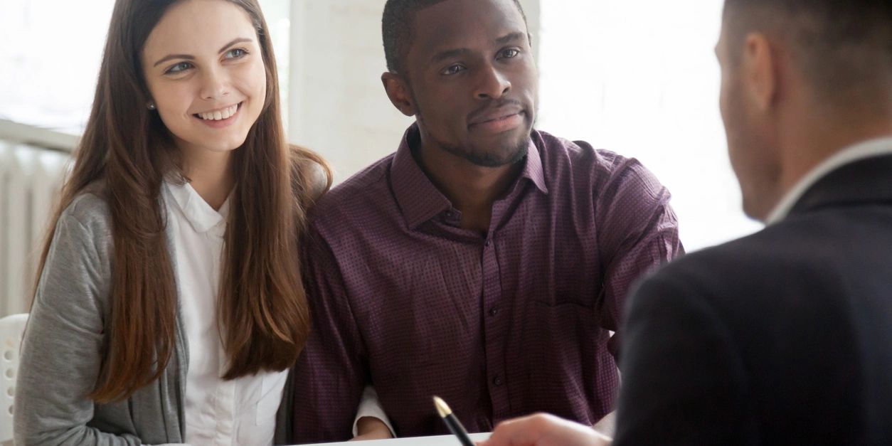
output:
[[590, 426], [536, 414], [500, 423], [479, 446], [609, 446], [610, 442]]

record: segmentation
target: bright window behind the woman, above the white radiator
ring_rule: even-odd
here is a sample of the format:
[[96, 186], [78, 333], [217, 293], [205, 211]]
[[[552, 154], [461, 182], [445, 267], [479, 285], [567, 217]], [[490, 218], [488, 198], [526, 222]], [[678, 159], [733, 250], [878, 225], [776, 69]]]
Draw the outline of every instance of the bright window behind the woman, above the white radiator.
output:
[[4, 2], [0, 118], [79, 133], [93, 102], [112, 4]]

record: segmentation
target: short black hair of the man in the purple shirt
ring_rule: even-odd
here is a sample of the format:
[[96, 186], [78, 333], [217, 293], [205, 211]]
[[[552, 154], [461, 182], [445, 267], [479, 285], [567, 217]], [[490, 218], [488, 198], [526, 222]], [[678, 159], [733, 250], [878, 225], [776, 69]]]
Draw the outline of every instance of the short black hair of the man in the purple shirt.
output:
[[[381, 19], [381, 30], [384, 36], [384, 58], [387, 60], [387, 70], [392, 73], [403, 71], [402, 63], [406, 51], [409, 50], [409, 40], [412, 32], [412, 19], [415, 13], [445, 0], [387, 0], [384, 4], [384, 17]], [[514, 0], [517, 10], [524, 17], [524, 7], [520, 0]]]

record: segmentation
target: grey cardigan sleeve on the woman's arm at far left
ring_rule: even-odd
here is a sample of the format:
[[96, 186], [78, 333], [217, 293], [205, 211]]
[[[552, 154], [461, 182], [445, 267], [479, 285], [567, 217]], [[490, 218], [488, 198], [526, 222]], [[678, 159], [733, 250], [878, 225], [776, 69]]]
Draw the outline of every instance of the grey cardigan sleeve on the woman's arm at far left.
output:
[[25, 330], [14, 400], [16, 444], [136, 445], [87, 426], [105, 333], [100, 296], [111, 277], [90, 227], [62, 213]]

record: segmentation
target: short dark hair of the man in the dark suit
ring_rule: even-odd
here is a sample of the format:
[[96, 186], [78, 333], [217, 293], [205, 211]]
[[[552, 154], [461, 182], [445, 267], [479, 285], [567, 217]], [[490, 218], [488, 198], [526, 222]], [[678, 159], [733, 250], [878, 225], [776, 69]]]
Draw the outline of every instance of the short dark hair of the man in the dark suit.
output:
[[723, 18], [732, 45], [751, 31], [789, 45], [798, 70], [828, 100], [863, 100], [892, 86], [892, 1], [725, 0]]

